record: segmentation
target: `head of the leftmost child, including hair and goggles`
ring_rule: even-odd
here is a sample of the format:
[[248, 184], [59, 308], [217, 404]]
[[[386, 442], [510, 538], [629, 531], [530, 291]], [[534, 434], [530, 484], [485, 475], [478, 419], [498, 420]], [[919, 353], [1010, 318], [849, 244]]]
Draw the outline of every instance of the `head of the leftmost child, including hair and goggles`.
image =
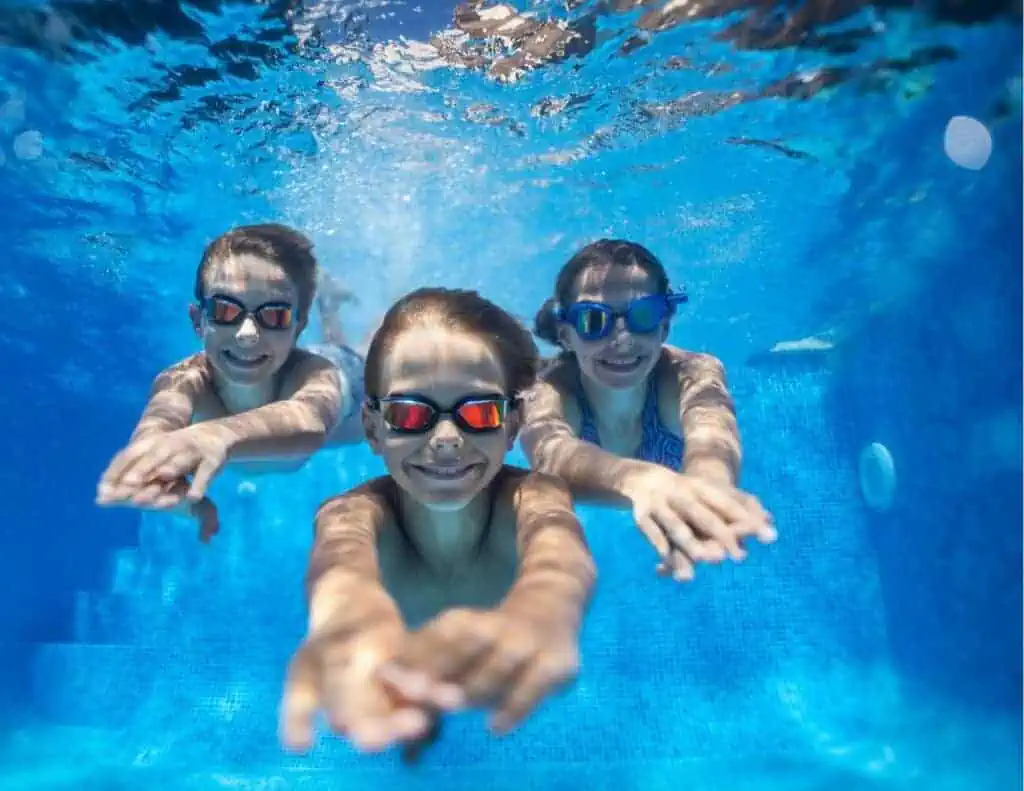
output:
[[312, 243], [279, 224], [217, 237], [196, 272], [193, 326], [214, 369], [254, 384], [276, 373], [306, 325], [316, 289]]

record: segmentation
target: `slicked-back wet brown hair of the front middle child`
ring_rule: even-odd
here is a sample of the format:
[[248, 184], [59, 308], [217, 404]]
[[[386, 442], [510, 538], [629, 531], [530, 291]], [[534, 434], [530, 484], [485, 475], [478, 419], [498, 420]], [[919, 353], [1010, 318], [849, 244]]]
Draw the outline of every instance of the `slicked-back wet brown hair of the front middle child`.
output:
[[391, 305], [370, 342], [366, 387], [371, 398], [382, 394], [381, 367], [398, 335], [433, 327], [469, 333], [486, 342], [501, 363], [507, 396], [516, 397], [537, 381], [537, 344], [515, 317], [476, 291], [421, 288]]

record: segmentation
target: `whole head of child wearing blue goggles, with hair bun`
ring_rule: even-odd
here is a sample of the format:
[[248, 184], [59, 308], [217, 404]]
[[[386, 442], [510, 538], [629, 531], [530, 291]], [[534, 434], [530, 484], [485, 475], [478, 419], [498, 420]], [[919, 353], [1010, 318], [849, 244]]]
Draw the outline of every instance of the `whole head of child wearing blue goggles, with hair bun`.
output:
[[602, 239], [562, 266], [534, 331], [574, 355], [589, 380], [629, 388], [654, 369], [669, 319], [684, 301], [684, 294], [671, 292], [665, 266], [647, 248]]

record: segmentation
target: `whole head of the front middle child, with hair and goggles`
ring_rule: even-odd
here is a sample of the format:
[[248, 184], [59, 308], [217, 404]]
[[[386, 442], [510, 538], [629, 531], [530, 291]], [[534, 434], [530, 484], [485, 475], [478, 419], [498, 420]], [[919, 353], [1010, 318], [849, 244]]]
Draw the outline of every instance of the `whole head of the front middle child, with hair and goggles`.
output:
[[475, 291], [425, 288], [387, 311], [367, 352], [364, 425], [395, 482], [425, 505], [461, 508], [501, 469], [537, 345]]

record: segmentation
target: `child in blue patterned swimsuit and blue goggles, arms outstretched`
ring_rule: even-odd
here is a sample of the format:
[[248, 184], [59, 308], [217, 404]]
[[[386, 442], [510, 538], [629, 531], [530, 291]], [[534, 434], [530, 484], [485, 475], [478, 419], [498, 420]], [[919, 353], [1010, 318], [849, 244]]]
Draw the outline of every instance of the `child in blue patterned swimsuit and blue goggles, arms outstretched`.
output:
[[775, 539], [757, 498], [736, 489], [740, 443], [725, 369], [668, 345], [685, 294], [635, 242], [600, 240], [558, 274], [536, 332], [561, 346], [525, 399], [522, 446], [578, 496], [630, 503], [663, 573], [742, 559], [744, 536]]

